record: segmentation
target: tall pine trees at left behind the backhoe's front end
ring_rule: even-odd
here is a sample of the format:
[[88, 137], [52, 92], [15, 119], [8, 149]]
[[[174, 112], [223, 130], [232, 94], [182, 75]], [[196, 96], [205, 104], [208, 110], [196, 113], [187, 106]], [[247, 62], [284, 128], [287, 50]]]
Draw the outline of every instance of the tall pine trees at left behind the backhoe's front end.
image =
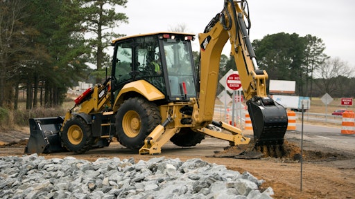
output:
[[101, 83], [110, 65], [104, 49], [112, 38], [123, 36], [112, 28], [128, 22], [114, 8], [126, 3], [0, 1], [0, 107], [17, 109], [20, 90], [26, 91], [26, 109], [53, 107], [62, 104], [78, 79], [94, 75]]

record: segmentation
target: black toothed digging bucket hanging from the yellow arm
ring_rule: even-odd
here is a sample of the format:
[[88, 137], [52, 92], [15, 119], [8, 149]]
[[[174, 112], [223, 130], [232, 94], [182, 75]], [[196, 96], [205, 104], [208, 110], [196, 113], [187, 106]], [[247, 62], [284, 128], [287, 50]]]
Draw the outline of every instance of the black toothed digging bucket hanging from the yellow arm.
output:
[[255, 146], [283, 144], [288, 124], [284, 106], [269, 97], [250, 99], [247, 104]]

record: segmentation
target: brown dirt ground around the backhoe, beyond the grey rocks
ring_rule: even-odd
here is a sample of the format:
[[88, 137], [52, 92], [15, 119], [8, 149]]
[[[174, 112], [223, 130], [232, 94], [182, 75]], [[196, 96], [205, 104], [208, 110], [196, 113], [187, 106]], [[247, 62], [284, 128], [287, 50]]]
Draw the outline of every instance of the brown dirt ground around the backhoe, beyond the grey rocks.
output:
[[[29, 138], [29, 134], [28, 129], [0, 131], [0, 156], [24, 155], [26, 138]], [[341, 150], [341, 146], [335, 149], [329, 148], [326, 143], [319, 144], [312, 140], [304, 140], [302, 151], [304, 159], [301, 164], [297, 160], [300, 158], [301, 140], [289, 134], [291, 133], [287, 132], [285, 135], [285, 149], [288, 155], [284, 158], [236, 159], [230, 155], [234, 153], [234, 148], [224, 150], [229, 146], [229, 142], [209, 137], [201, 144], [189, 148], [182, 148], [168, 142], [162, 148], [162, 153], [154, 156], [138, 155], [137, 151], [125, 149], [119, 142], [112, 142], [108, 147], [92, 149], [80, 155], [71, 152], [40, 155], [46, 158], [73, 156], [90, 161], [97, 158], [117, 157], [121, 160], [134, 158], [136, 162], [161, 156], [179, 158], [182, 161], [200, 158], [210, 163], [223, 164], [227, 169], [241, 173], [248, 171], [253, 176], [265, 180], [261, 189], [272, 187], [275, 192], [273, 198], [355, 198], [355, 146], [349, 153], [349, 150]], [[355, 137], [350, 136], [349, 139]], [[229, 158], [216, 158], [216, 156]]]

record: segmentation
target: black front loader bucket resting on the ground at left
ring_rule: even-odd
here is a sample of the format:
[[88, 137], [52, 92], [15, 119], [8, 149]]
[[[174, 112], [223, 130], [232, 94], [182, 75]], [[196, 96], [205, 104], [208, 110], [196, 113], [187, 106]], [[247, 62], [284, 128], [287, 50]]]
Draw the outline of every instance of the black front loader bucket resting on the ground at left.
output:
[[59, 134], [63, 121], [64, 117], [29, 119], [31, 135], [25, 148], [25, 153], [64, 151]]

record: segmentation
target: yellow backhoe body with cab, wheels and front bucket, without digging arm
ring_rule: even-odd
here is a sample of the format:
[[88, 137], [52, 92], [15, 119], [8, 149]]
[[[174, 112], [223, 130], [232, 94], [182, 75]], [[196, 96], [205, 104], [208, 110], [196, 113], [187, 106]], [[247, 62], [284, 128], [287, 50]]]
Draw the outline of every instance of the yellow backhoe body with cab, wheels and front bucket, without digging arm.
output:
[[[146, 138], [157, 136], [148, 135], [166, 118], [170, 122], [164, 127], [170, 133], [166, 133], [169, 136], [164, 142], [171, 138], [178, 146], [198, 144], [205, 135], [191, 130], [191, 100], [197, 97], [192, 39], [191, 34], [157, 32], [113, 40], [111, 77], [75, 99], [64, 120], [31, 120], [31, 142], [26, 153], [50, 153], [54, 149], [85, 153], [95, 146], [108, 146], [113, 137], [137, 150]], [[52, 137], [60, 140], [48, 142], [42, 124], [52, 125], [51, 129], [57, 130]], [[39, 148], [38, 143], [44, 146]], [[53, 147], [54, 143], [62, 146]]]

